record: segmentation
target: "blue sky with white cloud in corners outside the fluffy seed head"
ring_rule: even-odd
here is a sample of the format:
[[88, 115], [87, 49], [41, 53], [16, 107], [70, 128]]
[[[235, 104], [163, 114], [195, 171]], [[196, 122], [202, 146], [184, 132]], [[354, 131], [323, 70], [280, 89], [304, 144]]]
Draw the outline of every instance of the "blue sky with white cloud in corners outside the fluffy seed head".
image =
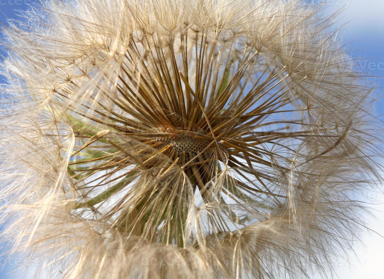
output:
[[[39, 0], [0, 0], [0, 23], [5, 25], [7, 18], [17, 18], [15, 10], [25, 9], [28, 4], [35, 2], [39, 2]], [[313, 5], [324, 5], [327, 12], [341, 10], [341, 16], [334, 26], [337, 28], [349, 21], [342, 28], [341, 34], [343, 34], [346, 48], [353, 58], [361, 58], [357, 62], [359, 69], [372, 76], [384, 76], [383, 0], [307, 0], [307, 2]], [[0, 50], [0, 56], [2, 55], [4, 53]], [[377, 84], [377, 92], [379, 96], [383, 97], [384, 79], [370, 78], [370, 80], [372, 84]], [[2, 82], [1, 78], [0, 82]], [[375, 109], [376, 114], [383, 114], [384, 101], [379, 100]], [[380, 119], [384, 121], [383, 116], [380, 116]], [[379, 194], [376, 198], [384, 203], [384, 195]], [[384, 205], [373, 207], [376, 210], [376, 218], [369, 218], [371, 228], [384, 235]], [[339, 278], [384, 278], [384, 264], [382, 262], [384, 239], [377, 234], [366, 232], [362, 235], [362, 241], [364, 241], [365, 246], [356, 243], [354, 247], [360, 261], [352, 260], [352, 266], [349, 266], [344, 259], [335, 262]], [[2, 267], [3, 261], [3, 259], [0, 261], [0, 267]], [[0, 272], [0, 279], [21, 278], [17, 274], [7, 275], [10, 269], [12, 266], [6, 264], [4, 270]]]

